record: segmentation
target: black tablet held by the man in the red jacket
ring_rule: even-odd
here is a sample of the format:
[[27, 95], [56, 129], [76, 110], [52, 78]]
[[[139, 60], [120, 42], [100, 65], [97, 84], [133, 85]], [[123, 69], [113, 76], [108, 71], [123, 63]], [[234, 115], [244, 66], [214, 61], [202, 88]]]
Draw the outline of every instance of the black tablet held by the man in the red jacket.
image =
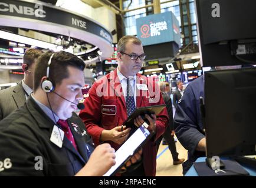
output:
[[[137, 108], [132, 115], [130, 115], [125, 122], [123, 122], [123, 125], [126, 125], [126, 127], [130, 127], [132, 129], [137, 129], [137, 127], [134, 125], [134, 119], [136, 119], [137, 116], [142, 116], [142, 119], [147, 122], [147, 119], [145, 117], [145, 114], [152, 114], [155, 113], [157, 116], [162, 110], [166, 107], [166, 105], [154, 105], [154, 106], [145, 106], [142, 108]], [[147, 122], [149, 123], [149, 122]]]

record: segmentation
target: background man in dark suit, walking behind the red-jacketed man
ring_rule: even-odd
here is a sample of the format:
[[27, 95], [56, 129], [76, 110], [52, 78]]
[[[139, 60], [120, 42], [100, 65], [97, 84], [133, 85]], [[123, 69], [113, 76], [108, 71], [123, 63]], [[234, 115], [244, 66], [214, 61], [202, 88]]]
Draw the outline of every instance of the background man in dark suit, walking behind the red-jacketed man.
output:
[[168, 96], [166, 90], [166, 82], [160, 82], [159, 87], [163, 96], [163, 100], [165, 101], [167, 112], [168, 112], [168, 117], [169, 117], [169, 126], [166, 127], [165, 132], [163, 133], [162, 136], [157, 139], [156, 146], [157, 150], [159, 149], [160, 142], [162, 138], [165, 139], [165, 141], [168, 143], [169, 150], [172, 153], [172, 159], [173, 159], [173, 164], [181, 164], [184, 162], [185, 159], [179, 159], [179, 153], [176, 150], [176, 145], [175, 145], [175, 140], [173, 138], [174, 136], [174, 127], [173, 127], [173, 113], [172, 113], [172, 99]]

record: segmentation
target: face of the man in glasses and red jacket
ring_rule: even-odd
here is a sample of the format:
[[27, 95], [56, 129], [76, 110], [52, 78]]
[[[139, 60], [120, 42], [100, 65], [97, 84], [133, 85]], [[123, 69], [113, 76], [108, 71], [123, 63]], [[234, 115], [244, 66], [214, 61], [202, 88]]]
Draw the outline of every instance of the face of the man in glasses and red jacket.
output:
[[142, 45], [136, 45], [132, 42], [126, 43], [126, 50], [124, 53], [127, 53], [128, 55], [124, 53], [120, 53], [118, 59], [119, 59], [119, 70], [124, 74], [124, 76], [134, 76], [137, 72], [140, 71], [142, 68], [142, 60], [140, 58], [137, 58], [137, 60], [132, 60], [129, 55], [142, 55], [144, 54]]

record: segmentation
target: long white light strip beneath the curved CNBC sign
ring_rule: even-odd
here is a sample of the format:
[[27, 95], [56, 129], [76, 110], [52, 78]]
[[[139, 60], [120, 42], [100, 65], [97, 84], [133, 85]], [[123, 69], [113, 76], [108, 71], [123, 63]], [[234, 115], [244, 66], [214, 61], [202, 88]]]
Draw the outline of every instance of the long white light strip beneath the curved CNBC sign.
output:
[[54, 45], [53, 43], [39, 41], [37, 39], [28, 38], [27, 36], [16, 35], [14, 33], [9, 33], [5, 31], [0, 31], [0, 38], [6, 39], [8, 41], [25, 43], [27, 45], [37, 46], [44, 49], [54, 49], [57, 47], [57, 45]]

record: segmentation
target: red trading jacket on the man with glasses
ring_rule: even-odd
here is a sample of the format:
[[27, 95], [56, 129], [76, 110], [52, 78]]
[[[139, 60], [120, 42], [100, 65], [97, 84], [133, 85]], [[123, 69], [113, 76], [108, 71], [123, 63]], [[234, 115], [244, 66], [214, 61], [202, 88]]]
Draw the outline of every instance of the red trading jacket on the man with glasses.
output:
[[[136, 108], [164, 104], [159, 86], [152, 79], [137, 73], [136, 83], [146, 84], [149, 90], [138, 90], [136, 87]], [[127, 119], [126, 102], [122, 85], [117, 76], [117, 70], [97, 80], [91, 86], [88, 97], [84, 100], [84, 110], [79, 116], [93, 137], [95, 145], [100, 143], [100, 135], [104, 129], [110, 130], [121, 126]], [[159, 113], [156, 119], [156, 135], [143, 147], [143, 164], [146, 176], [156, 174], [156, 143], [155, 141], [165, 132], [168, 126], [168, 113], [166, 108]], [[107, 142], [117, 150], [120, 145]]]

